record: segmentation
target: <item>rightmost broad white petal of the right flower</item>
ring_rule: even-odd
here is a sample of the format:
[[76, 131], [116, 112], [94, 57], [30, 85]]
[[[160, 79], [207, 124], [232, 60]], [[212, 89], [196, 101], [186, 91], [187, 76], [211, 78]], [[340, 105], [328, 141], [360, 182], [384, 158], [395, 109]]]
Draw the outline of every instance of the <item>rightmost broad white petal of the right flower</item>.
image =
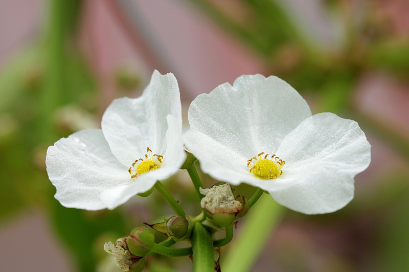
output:
[[307, 214], [336, 211], [353, 199], [354, 177], [368, 167], [370, 149], [355, 121], [332, 113], [316, 114], [288, 134], [277, 151], [286, 161], [277, 181], [292, 186], [264, 189], [292, 210]]

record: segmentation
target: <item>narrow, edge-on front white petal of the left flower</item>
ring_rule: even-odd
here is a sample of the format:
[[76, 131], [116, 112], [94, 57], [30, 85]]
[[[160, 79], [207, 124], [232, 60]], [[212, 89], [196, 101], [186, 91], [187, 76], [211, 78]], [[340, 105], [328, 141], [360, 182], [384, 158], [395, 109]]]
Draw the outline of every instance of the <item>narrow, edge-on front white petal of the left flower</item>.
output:
[[[133, 195], [146, 192], [155, 185], [157, 180], [164, 180], [179, 169], [186, 159], [181, 140], [181, 123], [173, 116], [167, 116], [169, 126], [166, 132], [166, 146], [161, 168], [147, 172], [134, 179], [132, 184], [112, 188], [103, 192], [102, 199], [108, 203], [108, 208], [112, 209], [125, 203]], [[118, 204], [119, 203], [119, 204]], [[116, 206], [115, 206], [116, 205]]]

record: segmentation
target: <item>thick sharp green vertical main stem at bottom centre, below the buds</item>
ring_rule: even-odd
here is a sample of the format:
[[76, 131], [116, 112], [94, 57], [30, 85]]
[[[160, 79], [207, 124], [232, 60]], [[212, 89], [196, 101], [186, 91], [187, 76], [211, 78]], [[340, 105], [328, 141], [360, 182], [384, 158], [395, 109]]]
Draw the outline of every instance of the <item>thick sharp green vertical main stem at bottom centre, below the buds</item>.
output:
[[214, 272], [214, 249], [210, 233], [195, 222], [192, 238], [193, 272]]

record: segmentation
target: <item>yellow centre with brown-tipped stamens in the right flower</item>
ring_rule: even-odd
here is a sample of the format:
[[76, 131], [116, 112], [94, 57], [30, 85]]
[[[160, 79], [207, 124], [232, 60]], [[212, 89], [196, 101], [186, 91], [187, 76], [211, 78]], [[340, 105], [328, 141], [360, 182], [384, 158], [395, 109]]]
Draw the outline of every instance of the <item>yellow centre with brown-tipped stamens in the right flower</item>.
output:
[[275, 179], [283, 174], [281, 167], [285, 164], [285, 161], [281, 160], [276, 154], [268, 159], [266, 154], [264, 158], [261, 156], [264, 152], [258, 154], [257, 157], [253, 157], [247, 160], [247, 167], [250, 168], [250, 172], [260, 179]]

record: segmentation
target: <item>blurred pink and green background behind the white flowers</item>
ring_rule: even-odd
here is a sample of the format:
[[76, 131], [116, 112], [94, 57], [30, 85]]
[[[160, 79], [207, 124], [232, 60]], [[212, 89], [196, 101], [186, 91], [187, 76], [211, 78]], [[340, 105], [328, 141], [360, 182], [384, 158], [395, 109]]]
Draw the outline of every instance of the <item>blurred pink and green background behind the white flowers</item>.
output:
[[[112, 99], [139, 96], [157, 69], [177, 78], [187, 127], [196, 95], [261, 73], [313, 113], [358, 121], [372, 144], [354, 200], [327, 215], [276, 208], [249, 271], [409, 271], [408, 12], [407, 0], [0, 0], [0, 270], [117, 271], [104, 242], [172, 214], [156, 193], [66, 209], [44, 164], [49, 145], [98, 128]], [[186, 172], [165, 186], [200, 212]], [[146, 262], [191, 270], [187, 257]]]

